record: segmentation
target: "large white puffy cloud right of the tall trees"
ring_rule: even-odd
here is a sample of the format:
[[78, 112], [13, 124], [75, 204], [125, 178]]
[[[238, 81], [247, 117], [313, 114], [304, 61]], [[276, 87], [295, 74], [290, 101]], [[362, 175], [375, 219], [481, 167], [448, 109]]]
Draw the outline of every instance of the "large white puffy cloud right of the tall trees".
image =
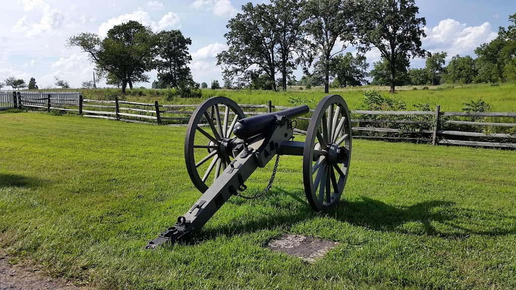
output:
[[427, 37], [423, 39], [423, 47], [430, 52], [447, 52], [448, 57], [472, 54], [478, 46], [498, 36], [489, 22], [467, 26], [454, 19], [446, 19], [432, 29], [424, 29]]

